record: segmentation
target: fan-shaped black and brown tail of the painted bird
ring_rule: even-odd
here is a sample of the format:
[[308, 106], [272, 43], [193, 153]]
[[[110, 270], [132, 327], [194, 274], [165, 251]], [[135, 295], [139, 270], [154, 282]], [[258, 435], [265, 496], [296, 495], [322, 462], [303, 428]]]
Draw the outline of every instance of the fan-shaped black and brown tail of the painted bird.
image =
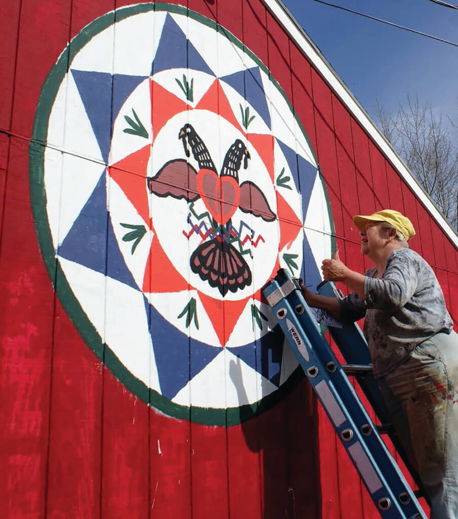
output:
[[252, 275], [240, 252], [226, 241], [214, 238], [201, 243], [191, 254], [191, 270], [208, 281], [224, 297], [251, 285]]

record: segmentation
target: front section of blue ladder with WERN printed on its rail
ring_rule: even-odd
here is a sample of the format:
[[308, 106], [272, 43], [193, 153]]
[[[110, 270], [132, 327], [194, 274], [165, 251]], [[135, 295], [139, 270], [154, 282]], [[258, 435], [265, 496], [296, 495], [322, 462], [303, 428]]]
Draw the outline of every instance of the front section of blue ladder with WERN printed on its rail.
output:
[[299, 282], [281, 269], [262, 292], [381, 516], [427, 519], [323, 336]]

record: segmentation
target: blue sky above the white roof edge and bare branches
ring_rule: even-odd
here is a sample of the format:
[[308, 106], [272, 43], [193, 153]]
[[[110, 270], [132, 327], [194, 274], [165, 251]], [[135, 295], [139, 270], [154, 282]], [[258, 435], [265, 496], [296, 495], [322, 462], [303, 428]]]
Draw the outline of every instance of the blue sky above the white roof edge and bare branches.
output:
[[[458, 47], [313, 0], [283, 1], [374, 120], [376, 99], [393, 113], [410, 93], [458, 121]], [[458, 10], [428, 0], [327, 1], [458, 43]]]

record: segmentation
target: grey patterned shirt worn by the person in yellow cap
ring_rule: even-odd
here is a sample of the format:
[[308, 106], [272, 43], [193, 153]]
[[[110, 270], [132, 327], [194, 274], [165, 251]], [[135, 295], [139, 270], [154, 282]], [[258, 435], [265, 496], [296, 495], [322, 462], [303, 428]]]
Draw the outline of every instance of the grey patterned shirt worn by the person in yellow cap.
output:
[[450, 333], [453, 322], [432, 268], [411, 249], [395, 249], [380, 279], [366, 271], [364, 299], [355, 292], [340, 301], [342, 321], [364, 320], [374, 377], [407, 361], [423, 340]]

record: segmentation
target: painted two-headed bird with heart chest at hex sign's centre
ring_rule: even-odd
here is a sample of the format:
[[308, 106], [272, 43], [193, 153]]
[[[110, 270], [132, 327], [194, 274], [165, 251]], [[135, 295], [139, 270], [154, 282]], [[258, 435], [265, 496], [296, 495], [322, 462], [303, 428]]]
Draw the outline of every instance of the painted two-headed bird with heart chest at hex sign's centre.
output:
[[191, 270], [223, 296], [228, 291], [237, 292], [251, 284], [252, 274], [242, 254], [227, 241], [233, 214], [240, 209], [266, 222], [273, 222], [276, 215], [256, 184], [245, 181], [239, 185], [238, 171], [242, 160], [246, 169], [250, 158], [240, 139], [235, 140], [226, 152], [218, 176], [207, 147], [190, 124], [183, 126], [178, 138], [183, 141], [187, 157], [191, 149], [199, 171], [185, 159], [171, 160], [154, 177], [148, 177], [149, 192], [160, 197], [185, 198], [188, 202], [202, 199], [212, 216], [213, 228], [221, 226], [222, 232], [201, 243], [191, 254]]

